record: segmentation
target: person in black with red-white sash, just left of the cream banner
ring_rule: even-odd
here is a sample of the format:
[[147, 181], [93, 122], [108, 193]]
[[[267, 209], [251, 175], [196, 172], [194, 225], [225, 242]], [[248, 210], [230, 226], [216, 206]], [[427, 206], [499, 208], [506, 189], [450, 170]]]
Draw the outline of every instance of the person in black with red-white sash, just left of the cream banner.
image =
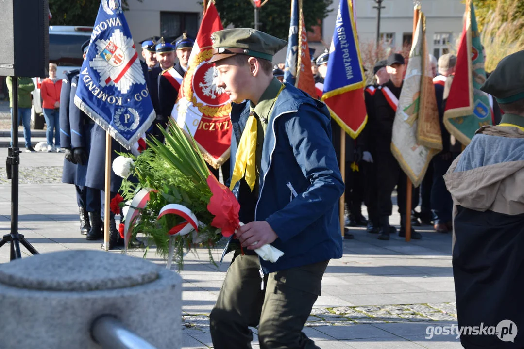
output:
[[[398, 210], [400, 213], [399, 236], [406, 236], [406, 174], [391, 153], [391, 135], [393, 121], [398, 105], [398, 98], [406, 70], [405, 60], [400, 53], [392, 53], [386, 60], [386, 71], [390, 80], [375, 93], [373, 104], [376, 119], [376, 155], [377, 155], [377, 192], [380, 230], [379, 240], [389, 240], [393, 205], [391, 194], [397, 186]], [[418, 193], [413, 190], [412, 202], [418, 202]], [[411, 239], [421, 239], [422, 235], [411, 228]]]

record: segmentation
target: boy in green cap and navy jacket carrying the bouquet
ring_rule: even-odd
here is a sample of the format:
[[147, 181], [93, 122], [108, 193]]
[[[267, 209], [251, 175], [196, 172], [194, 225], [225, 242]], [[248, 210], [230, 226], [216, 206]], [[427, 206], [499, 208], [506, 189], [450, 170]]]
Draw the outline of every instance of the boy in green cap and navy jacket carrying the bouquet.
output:
[[[250, 348], [258, 325], [260, 348], [318, 348], [301, 331], [329, 260], [342, 256], [328, 108], [273, 76], [286, 41], [250, 28], [212, 39], [216, 86], [233, 101], [230, 187], [246, 223], [211, 312], [213, 346]], [[268, 243], [284, 252], [275, 263], [253, 252]]]

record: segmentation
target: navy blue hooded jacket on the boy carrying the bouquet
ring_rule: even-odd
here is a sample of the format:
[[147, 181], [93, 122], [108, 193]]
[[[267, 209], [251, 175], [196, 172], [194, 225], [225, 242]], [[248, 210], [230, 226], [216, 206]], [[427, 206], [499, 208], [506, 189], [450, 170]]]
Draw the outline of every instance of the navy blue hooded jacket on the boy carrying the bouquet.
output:
[[[248, 116], [248, 102], [233, 104], [231, 171]], [[249, 193], [244, 179], [233, 189], [241, 220], [266, 220], [278, 235], [272, 245], [284, 255], [276, 263], [260, 261], [266, 274], [342, 257], [339, 198], [344, 182], [330, 120], [322, 102], [286, 84], [268, 120], [259, 192]]]

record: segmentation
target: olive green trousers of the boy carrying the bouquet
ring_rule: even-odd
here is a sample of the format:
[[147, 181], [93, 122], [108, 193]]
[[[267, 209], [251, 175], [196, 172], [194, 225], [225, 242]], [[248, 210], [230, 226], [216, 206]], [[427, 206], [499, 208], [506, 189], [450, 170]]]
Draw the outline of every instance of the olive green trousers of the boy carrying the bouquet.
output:
[[328, 262], [289, 268], [262, 279], [258, 256], [237, 251], [210, 315], [214, 348], [251, 348], [253, 333], [248, 327], [257, 325], [261, 349], [319, 348], [301, 331], [320, 296]]

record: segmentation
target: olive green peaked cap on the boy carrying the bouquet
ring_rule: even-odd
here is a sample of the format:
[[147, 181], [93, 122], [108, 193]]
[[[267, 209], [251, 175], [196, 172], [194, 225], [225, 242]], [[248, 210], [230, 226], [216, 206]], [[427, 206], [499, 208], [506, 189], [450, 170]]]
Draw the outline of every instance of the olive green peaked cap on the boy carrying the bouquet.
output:
[[286, 40], [275, 38], [253, 28], [215, 31], [211, 40], [213, 41], [213, 57], [209, 63], [232, 57], [235, 54], [244, 54], [271, 61], [275, 53], [288, 44]]

